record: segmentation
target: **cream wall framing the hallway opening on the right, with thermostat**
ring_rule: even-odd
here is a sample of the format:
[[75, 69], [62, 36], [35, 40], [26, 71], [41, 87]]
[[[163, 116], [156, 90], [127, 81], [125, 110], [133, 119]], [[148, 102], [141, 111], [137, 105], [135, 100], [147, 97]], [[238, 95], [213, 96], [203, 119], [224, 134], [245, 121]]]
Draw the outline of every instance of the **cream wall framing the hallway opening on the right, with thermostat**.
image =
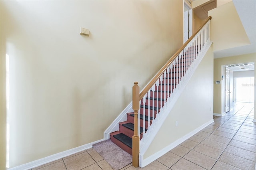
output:
[[[214, 59], [214, 82], [217, 80], [221, 80], [222, 75], [224, 77], [223, 77], [223, 80], [221, 80], [220, 85], [214, 84], [213, 113], [218, 113], [218, 114], [225, 113], [225, 106], [224, 106], [225, 73], [223, 71], [224, 65], [247, 63], [247, 62], [255, 63], [256, 62], [256, 53]], [[254, 75], [256, 75], [256, 69], [254, 69]], [[254, 87], [254, 91], [255, 91], [255, 87]], [[254, 95], [254, 99], [255, 99], [255, 95]], [[256, 102], [254, 102], [254, 107], [255, 107], [255, 103]], [[254, 110], [254, 116], [255, 115], [256, 115], [256, 111]]]

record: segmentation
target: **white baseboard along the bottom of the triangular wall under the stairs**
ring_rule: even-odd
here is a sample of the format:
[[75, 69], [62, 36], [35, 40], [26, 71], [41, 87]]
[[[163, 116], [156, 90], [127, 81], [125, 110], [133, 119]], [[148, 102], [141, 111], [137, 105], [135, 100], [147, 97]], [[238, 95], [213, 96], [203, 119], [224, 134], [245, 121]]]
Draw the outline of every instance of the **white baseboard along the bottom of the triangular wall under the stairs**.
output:
[[204, 123], [204, 125], [196, 128], [192, 132], [189, 132], [188, 134], [186, 134], [183, 137], [179, 138], [178, 140], [172, 142], [171, 144], [169, 144], [162, 150], [156, 152], [155, 154], [149, 156], [148, 158], [146, 158], [144, 160], [143, 160], [143, 156], [140, 155], [141, 156], [140, 157], [140, 167], [143, 168], [143, 167], [147, 166], [148, 164], [150, 164], [151, 162], [153, 162], [154, 160], [160, 158], [161, 156], [163, 156], [164, 154], [166, 154], [167, 152], [169, 152], [170, 150], [172, 150], [173, 148], [175, 148], [176, 146], [178, 146], [179, 144], [181, 144], [182, 142], [184, 142], [185, 140], [187, 140], [188, 138], [190, 138], [191, 136], [193, 136], [194, 134], [196, 134], [197, 132], [199, 132], [200, 130], [207, 127], [208, 125], [210, 125], [213, 122], [214, 122], [214, 120], [212, 119], [212, 120], [208, 121], [207, 123]]

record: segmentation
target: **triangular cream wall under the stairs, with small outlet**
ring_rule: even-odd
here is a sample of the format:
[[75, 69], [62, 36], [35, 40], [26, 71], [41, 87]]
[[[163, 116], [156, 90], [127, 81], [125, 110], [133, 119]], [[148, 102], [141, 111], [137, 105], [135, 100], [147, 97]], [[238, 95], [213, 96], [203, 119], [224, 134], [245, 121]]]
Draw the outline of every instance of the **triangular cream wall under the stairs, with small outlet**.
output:
[[[212, 81], [213, 53], [212, 47], [210, 47], [150, 144], [144, 158], [165, 148], [212, 119]], [[178, 121], [177, 127], [176, 121]]]

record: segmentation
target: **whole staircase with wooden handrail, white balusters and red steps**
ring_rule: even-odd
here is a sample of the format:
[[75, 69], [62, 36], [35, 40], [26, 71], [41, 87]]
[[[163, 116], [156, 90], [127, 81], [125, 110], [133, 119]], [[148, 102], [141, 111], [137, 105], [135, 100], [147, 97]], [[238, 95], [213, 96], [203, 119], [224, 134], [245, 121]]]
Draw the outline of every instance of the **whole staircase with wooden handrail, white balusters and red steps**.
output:
[[[211, 16], [174, 53], [142, 91], [138, 83], [134, 83], [133, 101], [105, 130], [104, 138], [110, 138], [132, 155], [134, 167], [139, 164], [143, 167], [149, 163], [144, 159], [144, 154], [212, 44], [210, 20]], [[138, 129], [138, 132], [134, 129]]]

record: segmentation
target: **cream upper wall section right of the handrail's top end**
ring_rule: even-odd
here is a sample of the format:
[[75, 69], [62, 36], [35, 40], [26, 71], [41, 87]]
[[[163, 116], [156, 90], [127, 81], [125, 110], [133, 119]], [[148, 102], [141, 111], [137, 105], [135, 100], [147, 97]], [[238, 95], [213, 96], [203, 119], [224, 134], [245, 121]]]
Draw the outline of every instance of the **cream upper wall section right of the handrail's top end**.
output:
[[213, 51], [250, 44], [233, 2], [208, 11], [208, 16], [212, 16], [210, 38]]

